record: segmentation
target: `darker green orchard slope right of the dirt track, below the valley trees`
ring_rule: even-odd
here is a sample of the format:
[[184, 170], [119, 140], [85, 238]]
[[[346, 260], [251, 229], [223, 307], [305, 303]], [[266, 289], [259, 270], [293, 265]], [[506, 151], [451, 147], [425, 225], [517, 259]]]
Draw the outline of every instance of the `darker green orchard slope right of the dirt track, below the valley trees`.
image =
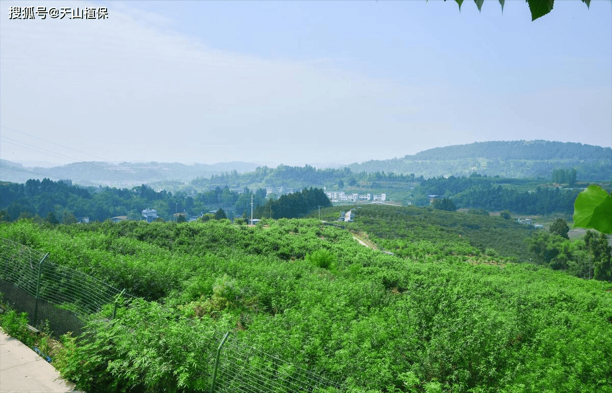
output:
[[365, 232], [379, 247], [398, 256], [484, 254], [537, 263], [584, 279], [610, 281], [612, 276], [612, 249], [606, 236], [589, 231], [584, 241], [570, 241], [563, 219], [556, 219], [547, 232], [502, 216], [370, 205], [357, 209], [354, 220], [350, 228]]

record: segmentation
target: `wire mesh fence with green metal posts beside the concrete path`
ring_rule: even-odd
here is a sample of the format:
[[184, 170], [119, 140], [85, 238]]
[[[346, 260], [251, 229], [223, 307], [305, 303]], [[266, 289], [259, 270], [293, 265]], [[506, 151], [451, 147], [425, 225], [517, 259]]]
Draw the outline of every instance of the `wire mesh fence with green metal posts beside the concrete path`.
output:
[[[9, 283], [10, 288], [6, 283]], [[11, 301], [22, 303], [21, 310], [28, 311], [30, 315], [32, 315], [31, 310], [34, 310], [34, 315], [38, 314], [34, 316], [34, 323], [36, 320], [48, 320], [60, 331], [60, 334], [65, 331], [78, 332], [78, 329], [74, 328], [74, 321], [84, 320], [108, 304], [121, 304], [121, 307], [138, 309], [133, 305], [133, 301], [137, 300], [133, 296], [124, 294], [123, 291], [87, 274], [55, 264], [48, 260], [48, 255], [45, 253], [5, 238], [0, 238], [0, 284], [2, 284], [0, 291], [16, 288], [16, 291], [23, 293], [13, 294]], [[119, 297], [122, 297], [123, 301], [117, 302]], [[74, 320], [72, 325], [71, 318]], [[81, 322], [81, 326], [83, 324]], [[126, 328], [132, 327], [126, 326]], [[193, 339], [192, 345], [198, 348], [198, 356], [206, 359], [206, 367], [200, 372], [204, 379], [211, 381], [211, 388], [206, 389], [207, 391], [221, 393], [349, 391], [345, 386], [326, 378], [321, 373], [297, 367], [253, 348], [231, 335], [223, 337], [222, 334], [203, 334], [204, 332], [198, 331], [195, 321], [187, 330], [191, 331], [188, 335]], [[195, 345], [196, 342], [198, 345]]]

